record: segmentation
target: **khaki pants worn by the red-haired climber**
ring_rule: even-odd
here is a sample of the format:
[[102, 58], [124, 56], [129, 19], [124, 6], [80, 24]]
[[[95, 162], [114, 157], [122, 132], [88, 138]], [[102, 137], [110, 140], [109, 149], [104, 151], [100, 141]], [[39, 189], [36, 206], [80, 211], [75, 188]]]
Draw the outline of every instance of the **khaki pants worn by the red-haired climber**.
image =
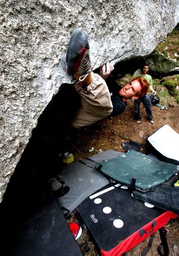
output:
[[80, 83], [75, 84], [82, 101], [82, 106], [71, 120], [71, 125], [76, 128], [91, 125], [112, 112], [112, 102], [106, 82], [93, 72], [92, 78], [92, 83], [85, 88]]

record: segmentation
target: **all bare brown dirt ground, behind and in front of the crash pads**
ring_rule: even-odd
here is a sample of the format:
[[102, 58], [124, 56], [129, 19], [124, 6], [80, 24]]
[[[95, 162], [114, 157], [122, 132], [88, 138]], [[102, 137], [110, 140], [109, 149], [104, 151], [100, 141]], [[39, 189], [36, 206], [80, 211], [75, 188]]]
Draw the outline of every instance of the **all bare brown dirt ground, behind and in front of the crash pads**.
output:
[[[141, 143], [141, 153], [151, 153], [147, 147], [145, 139], [154, 131], [168, 124], [177, 133], [179, 133], [179, 106], [168, 108], [167, 110], [160, 110], [159, 107], [153, 106], [154, 124], [149, 123], [145, 108], [140, 106], [142, 115], [141, 123], [138, 124], [134, 119], [134, 101], [128, 100], [127, 108], [124, 113], [114, 118], [106, 118], [87, 128], [82, 128], [77, 137], [71, 144], [70, 151], [74, 154], [75, 161], [82, 160], [91, 155], [97, 154], [99, 149], [107, 151], [109, 149], [124, 152], [122, 142], [136, 141]], [[94, 147], [92, 153], [88, 153], [88, 149]], [[75, 211], [71, 213], [71, 218], [67, 220], [70, 222], [77, 222], [75, 218]], [[169, 244], [169, 255], [179, 256], [179, 217], [174, 223], [168, 223], [165, 226], [169, 233], [167, 234], [167, 241]], [[79, 245], [89, 240], [89, 236], [85, 228], [83, 228], [82, 236], [77, 239]], [[149, 238], [144, 240], [139, 245], [132, 248], [126, 253], [127, 256], [137, 256], [142, 253], [144, 248], [148, 245]], [[147, 253], [147, 256], [158, 255], [157, 247], [161, 242], [159, 232], [156, 232], [152, 248]], [[98, 256], [97, 250], [92, 241], [87, 245], [81, 247], [84, 256]], [[89, 250], [89, 251], [88, 251]]]

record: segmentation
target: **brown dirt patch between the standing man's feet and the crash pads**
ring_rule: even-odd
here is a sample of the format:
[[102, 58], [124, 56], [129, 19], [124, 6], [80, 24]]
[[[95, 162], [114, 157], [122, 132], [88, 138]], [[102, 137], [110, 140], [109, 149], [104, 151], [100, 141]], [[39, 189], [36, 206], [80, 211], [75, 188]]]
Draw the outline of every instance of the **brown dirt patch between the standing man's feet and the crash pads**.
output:
[[74, 153], [75, 161], [90, 156], [88, 149], [94, 147], [91, 155], [98, 152], [99, 149], [106, 151], [113, 149], [124, 152], [122, 142], [136, 141], [141, 143], [141, 153], [147, 153], [147, 144], [145, 139], [154, 131], [168, 124], [177, 133], [179, 133], [179, 106], [160, 110], [157, 106], [152, 106], [154, 115], [154, 124], [149, 123], [145, 108], [140, 105], [140, 113], [142, 116], [141, 123], [138, 124], [134, 119], [134, 101], [127, 101], [127, 108], [124, 113], [113, 117], [106, 118], [82, 128], [78, 134], [77, 140], [72, 143], [71, 150]]

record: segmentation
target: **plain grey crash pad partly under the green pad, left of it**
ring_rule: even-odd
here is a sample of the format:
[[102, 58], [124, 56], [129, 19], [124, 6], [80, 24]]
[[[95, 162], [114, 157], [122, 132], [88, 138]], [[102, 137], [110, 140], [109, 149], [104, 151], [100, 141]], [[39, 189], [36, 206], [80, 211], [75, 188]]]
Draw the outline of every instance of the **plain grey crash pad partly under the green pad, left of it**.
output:
[[69, 216], [88, 196], [109, 184], [108, 179], [95, 169], [95, 164], [121, 154], [109, 150], [83, 161], [70, 163], [62, 166], [57, 176], [50, 179], [52, 190], [65, 217]]

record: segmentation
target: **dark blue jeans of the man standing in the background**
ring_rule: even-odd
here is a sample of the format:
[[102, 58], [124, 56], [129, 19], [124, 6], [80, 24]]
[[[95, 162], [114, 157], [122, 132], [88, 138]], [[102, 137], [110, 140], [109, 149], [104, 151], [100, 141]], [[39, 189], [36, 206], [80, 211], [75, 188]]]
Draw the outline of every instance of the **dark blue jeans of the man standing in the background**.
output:
[[137, 100], [134, 100], [135, 119], [141, 120], [141, 115], [140, 115], [140, 103], [141, 102], [145, 106], [145, 111], [147, 113], [148, 120], [152, 120], [153, 119], [152, 103], [151, 103], [151, 100], [150, 100], [150, 97], [148, 94], [141, 98], [138, 98]]

